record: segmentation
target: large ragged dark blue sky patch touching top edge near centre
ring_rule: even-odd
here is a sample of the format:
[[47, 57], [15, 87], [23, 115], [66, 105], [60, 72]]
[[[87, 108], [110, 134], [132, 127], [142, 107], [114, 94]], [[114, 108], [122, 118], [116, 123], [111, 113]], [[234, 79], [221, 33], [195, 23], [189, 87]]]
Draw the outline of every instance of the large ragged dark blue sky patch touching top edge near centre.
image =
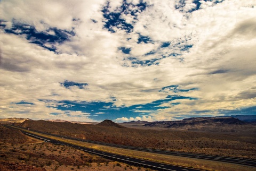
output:
[[[133, 24], [135, 23], [135, 20], [137, 20], [138, 13], [146, 10], [147, 3], [140, 1], [138, 5], [133, 5], [132, 3], [129, 3], [127, 1], [123, 1], [122, 5], [117, 7], [115, 11], [110, 12], [110, 2], [107, 3], [106, 6], [103, 6], [102, 12], [103, 17], [105, 20], [104, 28], [108, 29], [108, 31], [114, 33], [116, 32], [116, 29], [122, 29], [125, 30], [127, 33], [130, 33], [133, 31]], [[130, 10], [131, 8], [134, 10]], [[136, 8], [134, 8], [136, 6]], [[134, 21], [131, 23], [127, 23], [125, 19], [122, 18], [122, 14], [131, 14], [134, 18]]]

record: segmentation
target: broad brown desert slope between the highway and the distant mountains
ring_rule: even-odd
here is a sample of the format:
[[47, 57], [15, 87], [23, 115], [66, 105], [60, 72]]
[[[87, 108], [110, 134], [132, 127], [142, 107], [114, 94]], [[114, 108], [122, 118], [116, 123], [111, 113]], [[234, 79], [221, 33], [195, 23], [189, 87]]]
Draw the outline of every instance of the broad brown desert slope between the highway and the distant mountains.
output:
[[25, 121], [20, 126], [62, 136], [127, 146], [256, 159], [255, 132], [120, 129], [115, 126], [106, 126], [111, 122], [107, 123], [103, 122], [104, 126], [101, 126], [69, 122]]

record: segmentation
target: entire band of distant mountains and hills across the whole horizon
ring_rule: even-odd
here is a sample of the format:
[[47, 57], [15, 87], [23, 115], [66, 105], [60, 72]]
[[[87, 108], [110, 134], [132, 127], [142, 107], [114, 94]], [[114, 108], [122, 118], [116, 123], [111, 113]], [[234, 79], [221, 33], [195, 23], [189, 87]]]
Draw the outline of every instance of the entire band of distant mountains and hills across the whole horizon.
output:
[[[26, 121], [26, 122], [24, 122]], [[33, 121], [31, 119], [24, 118], [5, 118], [0, 119], [2, 124], [12, 124], [12, 123], [28, 123], [28, 121]], [[61, 119], [47, 120], [51, 121], [56, 125], [57, 123], [75, 123], [75, 124], [85, 124], [85, 125], [95, 125], [95, 126], [108, 126], [117, 128], [138, 128], [138, 129], [171, 129], [171, 130], [190, 130], [190, 131], [214, 131], [214, 132], [241, 132], [241, 131], [252, 131], [256, 132], [256, 115], [236, 115], [236, 116], [220, 116], [220, 117], [192, 117], [185, 118], [180, 121], [131, 121], [124, 123], [115, 123], [106, 119], [101, 123], [89, 123], [89, 122], [74, 122], [65, 121]], [[43, 121], [42, 121], [43, 122]], [[45, 122], [45, 121], [44, 121]], [[32, 122], [30, 122], [32, 123]], [[41, 123], [41, 122], [37, 122]], [[24, 126], [24, 125], [23, 125]]]

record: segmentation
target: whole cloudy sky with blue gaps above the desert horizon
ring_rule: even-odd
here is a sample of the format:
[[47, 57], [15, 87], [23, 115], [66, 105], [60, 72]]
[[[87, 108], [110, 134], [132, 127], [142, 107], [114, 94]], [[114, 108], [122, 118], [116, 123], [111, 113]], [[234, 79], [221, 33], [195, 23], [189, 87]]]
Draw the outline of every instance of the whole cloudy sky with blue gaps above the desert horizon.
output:
[[2, 0], [0, 118], [256, 115], [254, 0]]

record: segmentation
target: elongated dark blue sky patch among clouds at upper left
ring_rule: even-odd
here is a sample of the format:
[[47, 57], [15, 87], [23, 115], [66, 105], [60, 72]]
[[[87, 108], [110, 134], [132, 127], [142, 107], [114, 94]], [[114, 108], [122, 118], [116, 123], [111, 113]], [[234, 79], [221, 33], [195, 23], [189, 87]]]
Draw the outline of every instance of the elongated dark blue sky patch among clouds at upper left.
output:
[[[54, 46], [55, 44], [62, 44], [64, 41], [68, 41], [71, 36], [75, 36], [73, 31], [61, 30], [58, 28], [49, 28], [46, 32], [38, 32], [33, 25], [22, 24], [15, 22], [14, 20], [12, 22], [12, 28], [6, 28], [5, 25], [0, 25], [0, 27], [6, 33], [25, 35], [30, 43], [37, 44], [52, 52], [56, 52], [57, 48]], [[49, 46], [49, 44], [51, 46]]]

